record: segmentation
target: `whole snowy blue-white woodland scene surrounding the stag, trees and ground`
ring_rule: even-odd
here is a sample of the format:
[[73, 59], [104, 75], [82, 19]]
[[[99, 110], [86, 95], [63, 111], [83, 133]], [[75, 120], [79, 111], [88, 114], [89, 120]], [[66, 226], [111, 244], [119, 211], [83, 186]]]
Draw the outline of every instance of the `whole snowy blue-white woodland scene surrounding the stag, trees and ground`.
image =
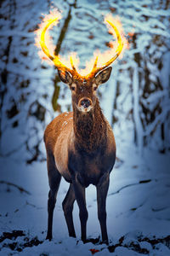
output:
[[[1, 3], [0, 256], [83, 256], [92, 255], [91, 249], [97, 250], [97, 255], [168, 256], [168, 3], [77, 0], [76, 7], [73, 3], [61, 0]], [[125, 32], [134, 31], [130, 49], [122, 60], [114, 63], [108, 83], [99, 87], [100, 105], [113, 127], [117, 148], [107, 198], [109, 247], [98, 241], [96, 189], [92, 185], [86, 191], [89, 242], [83, 244], [80, 240], [77, 203], [73, 212], [77, 238], [68, 236], [62, 201], [69, 184], [64, 180], [54, 211], [54, 239], [45, 240], [48, 173], [43, 131], [54, 116], [71, 110], [69, 88], [61, 82], [54, 84], [56, 69], [41, 62], [35, 46], [34, 31], [42, 13], [47, 14], [52, 6], [61, 9], [63, 16], [52, 32], [54, 43], [71, 8], [71, 21], [59, 53], [68, 55], [77, 51], [80, 67], [84, 67], [95, 49], [102, 52], [107, 49], [111, 35], [101, 22], [103, 15], [111, 11], [121, 16]], [[58, 98], [54, 96], [56, 86], [59, 86]], [[55, 113], [53, 98], [59, 104]], [[92, 242], [92, 238], [97, 242]]]

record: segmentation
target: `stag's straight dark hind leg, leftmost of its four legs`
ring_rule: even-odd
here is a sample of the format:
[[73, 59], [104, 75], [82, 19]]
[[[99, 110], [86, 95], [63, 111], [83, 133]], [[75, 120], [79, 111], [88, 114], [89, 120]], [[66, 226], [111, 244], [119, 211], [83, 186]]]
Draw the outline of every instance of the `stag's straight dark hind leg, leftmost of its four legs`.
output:
[[49, 193], [48, 193], [48, 233], [46, 239], [52, 239], [52, 229], [53, 229], [53, 216], [54, 207], [56, 203], [56, 196], [59, 189], [59, 183], [61, 180], [61, 175], [57, 170], [54, 162], [54, 155], [48, 155], [48, 181], [49, 181]]

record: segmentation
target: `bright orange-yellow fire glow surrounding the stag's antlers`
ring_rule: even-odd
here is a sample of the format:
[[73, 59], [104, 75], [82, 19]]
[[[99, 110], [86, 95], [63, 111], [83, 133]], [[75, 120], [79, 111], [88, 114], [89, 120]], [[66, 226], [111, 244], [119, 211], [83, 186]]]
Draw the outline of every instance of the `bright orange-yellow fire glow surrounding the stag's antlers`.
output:
[[[94, 56], [90, 61], [86, 62], [86, 67], [84, 69], [79, 70], [79, 58], [76, 52], [71, 53], [67, 58], [62, 57], [61, 55], [54, 55], [54, 45], [51, 43], [52, 38], [49, 37], [48, 29], [51, 29], [54, 25], [56, 25], [61, 19], [61, 14], [59, 11], [54, 10], [51, 11], [49, 15], [45, 15], [42, 23], [39, 25], [39, 29], [36, 34], [36, 45], [41, 50], [39, 51], [39, 55], [42, 60], [47, 60], [47, 56], [50, 60], [54, 61], [54, 65], [57, 67], [68, 67], [72, 69], [72, 64], [74, 63], [74, 67], [76, 67], [77, 72], [82, 76], [88, 76], [89, 73], [94, 70], [94, 61], [98, 58], [97, 67], [105, 67], [105, 64], [112, 63], [117, 56], [122, 57], [122, 52], [127, 48], [127, 39], [124, 36], [124, 32], [122, 29], [122, 23], [118, 17], [113, 18], [111, 14], [105, 15], [105, 24], [108, 26], [109, 32], [117, 38], [116, 42], [109, 42], [110, 49], [106, 50], [105, 53], [101, 53], [99, 49], [94, 52]], [[111, 56], [114, 56], [111, 58]], [[53, 62], [52, 62], [53, 63]]]

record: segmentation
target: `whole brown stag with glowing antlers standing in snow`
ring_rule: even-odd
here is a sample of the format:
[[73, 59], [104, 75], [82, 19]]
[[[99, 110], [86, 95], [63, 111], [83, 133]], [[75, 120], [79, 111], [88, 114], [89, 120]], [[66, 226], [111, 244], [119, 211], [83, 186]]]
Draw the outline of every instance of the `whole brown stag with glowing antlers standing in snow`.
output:
[[[66, 67], [58, 55], [49, 53], [45, 42], [45, 33], [50, 21], [42, 30], [41, 47], [58, 69], [60, 80], [71, 90], [72, 112], [60, 113], [47, 126], [44, 143], [47, 152], [48, 167], [48, 232], [46, 239], [52, 239], [54, 207], [61, 177], [70, 183], [62, 203], [69, 236], [76, 237], [73, 223], [73, 205], [77, 201], [81, 224], [81, 239], [87, 241], [88, 210], [85, 191], [89, 184], [97, 190], [98, 218], [102, 242], [108, 244], [106, 226], [106, 197], [110, 184], [110, 174], [116, 160], [116, 142], [111, 125], [105, 119], [99, 106], [97, 90], [100, 84], [110, 79], [111, 63], [122, 51], [122, 38], [116, 26], [110, 25], [116, 32], [118, 46], [116, 54], [102, 67], [94, 67], [87, 76], [77, 72], [71, 58], [71, 68]], [[108, 21], [109, 23], [109, 21]]]

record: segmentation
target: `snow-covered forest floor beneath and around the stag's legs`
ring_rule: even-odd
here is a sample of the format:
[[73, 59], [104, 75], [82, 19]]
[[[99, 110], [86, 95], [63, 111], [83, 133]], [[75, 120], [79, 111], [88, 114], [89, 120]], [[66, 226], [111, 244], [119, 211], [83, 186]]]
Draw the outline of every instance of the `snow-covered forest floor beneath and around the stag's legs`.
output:
[[139, 156], [130, 145], [117, 145], [116, 166], [111, 172], [107, 198], [109, 247], [99, 244], [93, 186], [87, 189], [89, 242], [80, 241], [77, 203], [74, 207], [77, 239], [68, 236], [61, 207], [68, 189], [65, 180], [59, 187], [54, 211], [54, 239], [45, 241], [48, 200], [45, 162], [26, 166], [20, 160], [0, 159], [0, 255], [91, 255], [90, 249], [99, 250], [97, 255], [170, 255], [169, 155], [145, 151]]

